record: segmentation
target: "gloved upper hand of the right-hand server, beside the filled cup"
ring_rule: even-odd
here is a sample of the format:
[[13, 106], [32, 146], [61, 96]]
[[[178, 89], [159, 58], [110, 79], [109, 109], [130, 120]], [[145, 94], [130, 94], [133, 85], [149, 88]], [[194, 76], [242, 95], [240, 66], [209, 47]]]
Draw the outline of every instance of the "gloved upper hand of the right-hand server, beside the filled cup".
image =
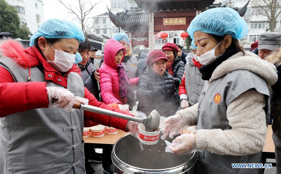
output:
[[173, 138], [174, 135], [178, 134], [179, 130], [183, 129], [183, 123], [183, 117], [178, 114], [166, 118], [165, 121], [161, 123], [163, 133], [161, 138], [164, 140], [168, 135], [170, 138]]

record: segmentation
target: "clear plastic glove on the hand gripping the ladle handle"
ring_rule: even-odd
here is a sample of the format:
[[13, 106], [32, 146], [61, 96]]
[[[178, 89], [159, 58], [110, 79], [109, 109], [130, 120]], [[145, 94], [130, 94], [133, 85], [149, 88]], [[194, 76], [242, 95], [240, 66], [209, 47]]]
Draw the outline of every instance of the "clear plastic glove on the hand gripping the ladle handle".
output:
[[[49, 97], [49, 107], [54, 108], [63, 108], [66, 112], [71, 112], [75, 96], [68, 89], [48, 86], [46, 87], [47, 94]], [[57, 99], [55, 103], [53, 103], [53, 98]]]

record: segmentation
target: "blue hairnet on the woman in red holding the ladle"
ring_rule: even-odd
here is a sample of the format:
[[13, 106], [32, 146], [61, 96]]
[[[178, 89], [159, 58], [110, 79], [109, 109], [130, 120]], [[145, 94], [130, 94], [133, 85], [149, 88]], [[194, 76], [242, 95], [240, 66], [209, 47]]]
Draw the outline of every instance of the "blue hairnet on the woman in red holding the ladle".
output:
[[38, 31], [30, 38], [29, 46], [34, 45], [34, 40], [38, 37], [46, 38], [75, 38], [79, 42], [85, 41], [85, 36], [81, 28], [75, 23], [62, 19], [49, 19], [44, 22], [38, 29]]

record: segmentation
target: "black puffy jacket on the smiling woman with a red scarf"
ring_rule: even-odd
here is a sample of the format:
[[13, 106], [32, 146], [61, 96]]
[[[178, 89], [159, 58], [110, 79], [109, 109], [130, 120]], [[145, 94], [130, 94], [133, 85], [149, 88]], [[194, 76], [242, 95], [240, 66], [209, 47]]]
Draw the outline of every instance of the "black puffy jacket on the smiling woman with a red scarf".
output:
[[179, 87], [179, 84], [183, 78], [184, 66], [185, 65], [181, 58], [177, 56], [172, 65], [173, 77], [177, 88]]

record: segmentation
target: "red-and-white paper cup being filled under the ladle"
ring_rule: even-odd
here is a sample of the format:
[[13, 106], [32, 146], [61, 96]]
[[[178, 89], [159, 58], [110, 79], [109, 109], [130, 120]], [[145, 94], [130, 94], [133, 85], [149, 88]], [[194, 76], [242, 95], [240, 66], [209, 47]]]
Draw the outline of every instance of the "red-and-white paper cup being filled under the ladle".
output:
[[153, 145], [158, 142], [161, 128], [158, 128], [155, 132], [146, 132], [143, 124], [138, 125], [139, 141], [143, 144]]

